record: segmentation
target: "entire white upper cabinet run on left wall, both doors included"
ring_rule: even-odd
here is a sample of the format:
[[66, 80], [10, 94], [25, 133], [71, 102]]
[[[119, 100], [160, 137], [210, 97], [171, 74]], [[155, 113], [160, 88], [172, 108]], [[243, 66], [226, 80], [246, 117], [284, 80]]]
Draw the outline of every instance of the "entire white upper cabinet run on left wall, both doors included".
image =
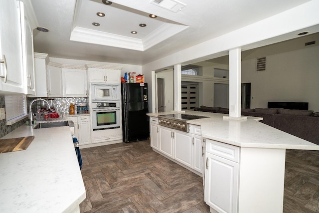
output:
[[33, 63], [35, 22], [30, 1], [1, 1], [0, 94], [35, 94]]

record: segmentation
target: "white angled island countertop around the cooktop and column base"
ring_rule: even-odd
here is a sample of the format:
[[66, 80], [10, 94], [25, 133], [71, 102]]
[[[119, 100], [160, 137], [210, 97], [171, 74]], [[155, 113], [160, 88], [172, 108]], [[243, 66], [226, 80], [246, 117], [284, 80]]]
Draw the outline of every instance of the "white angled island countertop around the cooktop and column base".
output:
[[159, 115], [184, 113], [209, 118], [187, 121], [188, 124], [199, 125], [204, 138], [226, 144], [270, 149], [319, 150], [317, 144], [298, 138], [261, 122], [262, 118], [247, 116], [247, 120], [227, 120], [227, 114], [200, 111], [172, 111], [164, 113], [148, 113], [151, 117]]

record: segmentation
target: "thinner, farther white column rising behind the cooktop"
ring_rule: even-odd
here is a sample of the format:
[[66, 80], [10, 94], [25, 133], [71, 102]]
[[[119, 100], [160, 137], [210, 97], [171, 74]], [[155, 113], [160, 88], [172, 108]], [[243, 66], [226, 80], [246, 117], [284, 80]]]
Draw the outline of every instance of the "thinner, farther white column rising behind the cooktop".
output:
[[174, 65], [174, 110], [181, 110], [181, 65]]

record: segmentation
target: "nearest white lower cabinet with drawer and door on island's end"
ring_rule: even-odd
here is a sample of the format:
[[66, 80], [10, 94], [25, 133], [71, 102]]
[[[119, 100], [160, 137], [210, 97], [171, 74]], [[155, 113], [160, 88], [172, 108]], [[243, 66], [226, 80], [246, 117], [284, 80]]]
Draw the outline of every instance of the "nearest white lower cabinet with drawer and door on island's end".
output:
[[206, 143], [205, 202], [218, 213], [237, 213], [239, 147]]

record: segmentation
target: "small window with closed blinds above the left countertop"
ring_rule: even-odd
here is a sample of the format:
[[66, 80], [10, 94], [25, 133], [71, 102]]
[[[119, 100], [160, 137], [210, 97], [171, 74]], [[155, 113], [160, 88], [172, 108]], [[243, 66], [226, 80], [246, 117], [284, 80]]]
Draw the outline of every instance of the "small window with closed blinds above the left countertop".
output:
[[14, 124], [27, 117], [26, 96], [4, 96], [6, 125]]

